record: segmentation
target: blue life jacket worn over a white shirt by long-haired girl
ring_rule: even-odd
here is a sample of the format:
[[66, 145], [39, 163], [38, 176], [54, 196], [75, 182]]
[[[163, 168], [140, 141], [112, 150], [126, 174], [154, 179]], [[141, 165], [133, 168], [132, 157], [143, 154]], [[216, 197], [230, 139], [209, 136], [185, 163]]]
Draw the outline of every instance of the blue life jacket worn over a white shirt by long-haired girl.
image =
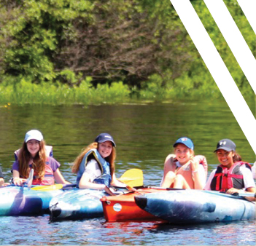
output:
[[77, 187], [79, 187], [79, 181], [82, 178], [82, 174], [85, 172], [85, 167], [88, 164], [88, 157], [90, 155], [93, 155], [93, 159], [96, 159], [96, 162], [98, 162], [98, 166], [101, 169], [101, 176], [94, 179], [93, 183], [101, 183], [106, 186], [109, 186], [112, 181], [112, 177], [110, 175], [109, 162], [106, 162], [106, 160], [101, 156], [101, 154], [98, 153], [96, 148], [92, 148], [85, 154], [85, 156], [82, 159], [82, 162], [79, 165], [79, 170], [77, 172]]

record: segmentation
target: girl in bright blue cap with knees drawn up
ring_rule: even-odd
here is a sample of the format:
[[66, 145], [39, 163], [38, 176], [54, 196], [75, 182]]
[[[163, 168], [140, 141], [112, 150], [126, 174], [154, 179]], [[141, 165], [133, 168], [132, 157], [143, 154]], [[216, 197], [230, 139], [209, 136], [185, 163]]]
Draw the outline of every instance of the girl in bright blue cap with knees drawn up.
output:
[[164, 163], [160, 186], [178, 189], [203, 189], [207, 177], [207, 162], [204, 156], [194, 156], [190, 138], [179, 138], [174, 143], [174, 154], [169, 154]]

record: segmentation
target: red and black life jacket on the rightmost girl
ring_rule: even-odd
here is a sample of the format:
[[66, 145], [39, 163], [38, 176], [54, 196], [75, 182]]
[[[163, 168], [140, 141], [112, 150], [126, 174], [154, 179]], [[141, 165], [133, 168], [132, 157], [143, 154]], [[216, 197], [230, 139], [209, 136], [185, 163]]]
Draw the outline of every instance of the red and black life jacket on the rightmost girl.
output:
[[247, 162], [236, 162], [229, 169], [220, 164], [217, 166], [214, 178], [211, 182], [212, 191], [228, 191], [230, 188], [243, 189], [244, 176], [241, 172], [241, 166], [251, 170], [251, 166]]

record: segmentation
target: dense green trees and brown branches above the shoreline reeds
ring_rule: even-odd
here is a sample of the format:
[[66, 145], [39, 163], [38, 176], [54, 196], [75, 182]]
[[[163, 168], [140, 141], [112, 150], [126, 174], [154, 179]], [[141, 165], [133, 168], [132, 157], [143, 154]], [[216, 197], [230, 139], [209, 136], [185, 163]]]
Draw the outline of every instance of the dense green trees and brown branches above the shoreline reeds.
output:
[[[191, 3], [241, 92], [253, 95], [203, 1]], [[255, 51], [236, 0], [225, 4]], [[0, 74], [0, 95], [24, 82], [53, 91], [118, 82], [128, 97], [160, 100], [220, 95], [169, 0], [0, 0]]]

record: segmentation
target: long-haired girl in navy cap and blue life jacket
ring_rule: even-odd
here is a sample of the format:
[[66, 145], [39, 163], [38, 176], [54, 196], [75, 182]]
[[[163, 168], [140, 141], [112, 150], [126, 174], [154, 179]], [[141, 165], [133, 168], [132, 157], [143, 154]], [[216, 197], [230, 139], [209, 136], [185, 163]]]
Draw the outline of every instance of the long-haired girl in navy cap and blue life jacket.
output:
[[115, 146], [111, 135], [101, 133], [77, 156], [72, 172], [77, 173], [79, 189], [104, 190], [114, 195], [109, 189], [110, 184], [125, 187], [115, 176]]

